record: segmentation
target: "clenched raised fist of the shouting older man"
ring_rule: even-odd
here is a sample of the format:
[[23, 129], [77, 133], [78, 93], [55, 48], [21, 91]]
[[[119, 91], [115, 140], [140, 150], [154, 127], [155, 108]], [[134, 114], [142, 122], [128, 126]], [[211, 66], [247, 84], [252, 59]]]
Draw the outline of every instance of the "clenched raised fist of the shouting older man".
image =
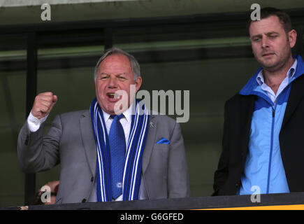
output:
[[52, 92], [41, 92], [35, 97], [31, 114], [38, 119], [44, 118], [52, 110], [58, 98]]

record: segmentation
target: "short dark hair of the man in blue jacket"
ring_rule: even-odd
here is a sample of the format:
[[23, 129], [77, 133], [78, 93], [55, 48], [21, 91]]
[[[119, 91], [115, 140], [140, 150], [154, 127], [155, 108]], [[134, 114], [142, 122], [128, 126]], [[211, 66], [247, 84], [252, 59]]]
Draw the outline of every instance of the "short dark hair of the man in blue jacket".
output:
[[[284, 11], [278, 9], [278, 8], [273, 8], [273, 7], [266, 7], [266, 8], [261, 8], [261, 20], [266, 19], [270, 17], [271, 15], [277, 16], [279, 18], [280, 23], [282, 24], [286, 34], [291, 31], [292, 25], [291, 25], [291, 19], [287, 13]], [[254, 22], [251, 20], [251, 18], [248, 21], [247, 24], [247, 30], [249, 31], [249, 27], [251, 23]]]

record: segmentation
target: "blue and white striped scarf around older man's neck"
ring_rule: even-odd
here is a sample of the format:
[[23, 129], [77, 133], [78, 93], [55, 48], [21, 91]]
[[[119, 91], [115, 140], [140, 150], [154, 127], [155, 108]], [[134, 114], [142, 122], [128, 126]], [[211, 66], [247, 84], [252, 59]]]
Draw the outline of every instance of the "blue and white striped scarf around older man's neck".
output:
[[[122, 180], [122, 200], [138, 200], [141, 179], [141, 167], [149, 114], [144, 104], [136, 101], [136, 114], [132, 113], [131, 130], [126, 156], [124, 158], [124, 176]], [[141, 106], [141, 109], [140, 109]], [[143, 113], [144, 111], [144, 113]], [[90, 113], [92, 127], [97, 147], [96, 193], [98, 202], [111, 202], [111, 165], [108, 133], [106, 130], [103, 111], [96, 98], [91, 103]]]

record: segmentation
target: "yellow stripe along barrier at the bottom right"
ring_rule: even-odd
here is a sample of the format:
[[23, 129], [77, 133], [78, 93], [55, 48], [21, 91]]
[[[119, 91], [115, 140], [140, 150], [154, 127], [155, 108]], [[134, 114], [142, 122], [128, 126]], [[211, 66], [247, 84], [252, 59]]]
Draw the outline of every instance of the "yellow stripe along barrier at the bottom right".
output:
[[235, 207], [235, 208], [220, 208], [220, 209], [198, 209], [198, 210], [304, 210], [304, 204]]

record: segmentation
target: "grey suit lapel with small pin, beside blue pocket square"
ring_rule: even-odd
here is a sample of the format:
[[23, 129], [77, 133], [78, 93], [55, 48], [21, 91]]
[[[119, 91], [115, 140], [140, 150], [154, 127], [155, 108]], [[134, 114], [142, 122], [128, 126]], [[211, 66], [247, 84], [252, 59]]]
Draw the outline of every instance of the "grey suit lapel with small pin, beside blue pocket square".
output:
[[147, 141], [145, 144], [145, 150], [143, 151], [143, 174], [145, 174], [145, 170], [147, 169], [147, 165], [149, 165], [150, 162], [150, 156], [152, 152], [152, 148], [155, 143], [155, 134], [157, 132], [157, 123], [155, 116], [150, 115], [149, 120], [149, 127], [147, 132]]

